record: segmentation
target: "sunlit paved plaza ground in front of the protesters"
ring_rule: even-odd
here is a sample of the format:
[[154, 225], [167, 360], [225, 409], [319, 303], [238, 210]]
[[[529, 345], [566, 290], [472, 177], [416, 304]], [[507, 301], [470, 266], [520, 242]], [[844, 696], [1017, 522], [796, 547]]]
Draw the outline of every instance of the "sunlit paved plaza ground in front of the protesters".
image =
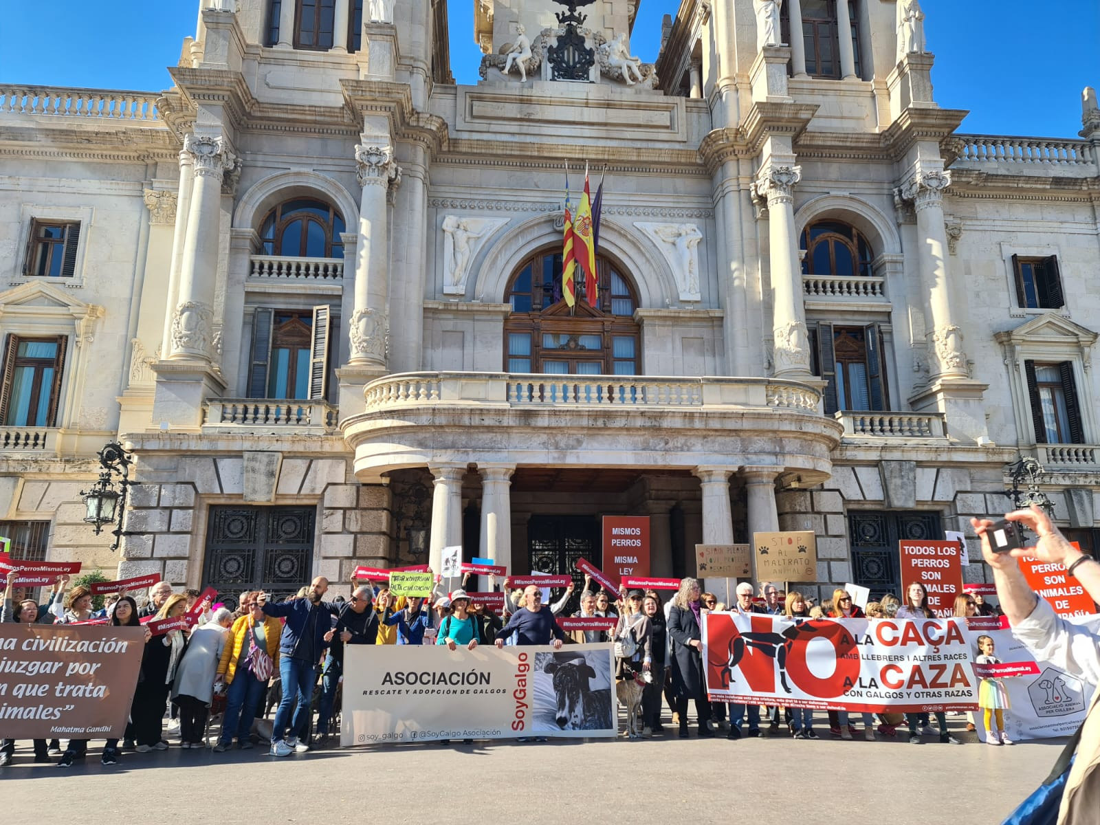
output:
[[[0, 809], [20, 821], [79, 801], [95, 822], [431, 823], [656, 821], [1000, 823], [1048, 772], [1065, 740], [1012, 747], [935, 739], [789, 738], [514, 741], [320, 750], [274, 759], [261, 748], [124, 754], [99, 763], [99, 744], [70, 769], [0, 772]], [[826, 728], [827, 730], [827, 728]], [[170, 738], [170, 737], [169, 737]], [[175, 739], [172, 739], [175, 744]], [[20, 743], [24, 745], [24, 743]], [[29, 748], [30, 743], [25, 743]], [[648, 812], [653, 813], [648, 813]], [[675, 813], [679, 812], [679, 813]], [[4, 820], [9, 817], [3, 816]], [[56, 818], [56, 816], [54, 817]], [[66, 818], [66, 817], [63, 817]], [[70, 818], [70, 817], [68, 817]], [[78, 816], [87, 820], [88, 816]], [[14, 818], [12, 820], [15, 821]]]

